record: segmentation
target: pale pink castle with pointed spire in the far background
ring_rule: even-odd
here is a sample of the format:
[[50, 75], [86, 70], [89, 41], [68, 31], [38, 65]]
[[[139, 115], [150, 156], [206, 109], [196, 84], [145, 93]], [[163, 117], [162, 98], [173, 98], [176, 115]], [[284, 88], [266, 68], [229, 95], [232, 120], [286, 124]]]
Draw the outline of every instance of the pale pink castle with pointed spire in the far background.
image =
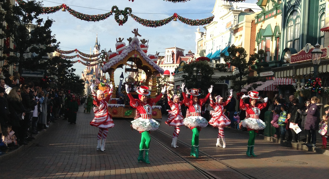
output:
[[[96, 34], [96, 42], [94, 45], [94, 50], [92, 51], [93, 54], [99, 54], [100, 53], [101, 45], [97, 40], [97, 34]], [[90, 54], [91, 54], [91, 48], [90, 48]], [[98, 58], [98, 57], [93, 57]], [[97, 61], [95, 62], [87, 62], [87, 64], [90, 66], [86, 66], [86, 68], [81, 72], [81, 78], [85, 81], [85, 94], [89, 94], [90, 91], [90, 83], [92, 83], [92, 80], [98, 79], [99, 81], [102, 81], [104, 78], [103, 75], [105, 75], [98, 64]]]

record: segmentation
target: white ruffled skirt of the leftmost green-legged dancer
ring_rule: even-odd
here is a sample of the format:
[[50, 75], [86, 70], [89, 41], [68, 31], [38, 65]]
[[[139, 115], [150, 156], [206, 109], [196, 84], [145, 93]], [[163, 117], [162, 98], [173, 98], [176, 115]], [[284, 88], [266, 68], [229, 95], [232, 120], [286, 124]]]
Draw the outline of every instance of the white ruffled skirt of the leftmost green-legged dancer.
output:
[[131, 121], [131, 124], [139, 132], [157, 130], [160, 126], [159, 122], [154, 119], [143, 119], [141, 117]]

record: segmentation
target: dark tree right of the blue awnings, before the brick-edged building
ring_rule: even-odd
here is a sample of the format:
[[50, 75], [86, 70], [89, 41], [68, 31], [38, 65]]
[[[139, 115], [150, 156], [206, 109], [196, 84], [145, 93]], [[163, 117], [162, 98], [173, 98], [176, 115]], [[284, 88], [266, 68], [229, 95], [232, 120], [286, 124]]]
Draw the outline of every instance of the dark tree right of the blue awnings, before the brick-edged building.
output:
[[[264, 50], [258, 50], [257, 53], [250, 55], [247, 62], [247, 52], [242, 47], [235, 47], [232, 45], [228, 48], [229, 55], [226, 56], [221, 53], [220, 56], [224, 58], [225, 63], [217, 64], [216, 70], [223, 72], [232, 72], [232, 75], [221, 76], [220, 79], [231, 80], [231, 88], [234, 91], [241, 91], [246, 84], [252, 84], [246, 90], [256, 89], [261, 84], [256, 84], [258, 81], [265, 82], [266, 78], [261, 76], [254, 76], [254, 71], [261, 72], [263, 70], [261, 62], [266, 59], [267, 54]], [[229, 68], [230, 67], [230, 68]], [[252, 73], [252, 75], [249, 75]]]

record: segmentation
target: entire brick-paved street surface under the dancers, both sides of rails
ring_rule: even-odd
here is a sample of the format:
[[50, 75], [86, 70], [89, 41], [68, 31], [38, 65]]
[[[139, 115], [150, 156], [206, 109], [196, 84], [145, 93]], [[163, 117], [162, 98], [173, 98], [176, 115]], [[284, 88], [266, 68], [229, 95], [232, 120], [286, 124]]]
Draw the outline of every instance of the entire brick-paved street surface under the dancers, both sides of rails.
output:
[[181, 127], [179, 148], [172, 148], [165, 133], [172, 135], [173, 127], [165, 125], [166, 116], [159, 121], [161, 131], [151, 132], [151, 164], [138, 163], [140, 134], [131, 131], [129, 121], [114, 120], [101, 152], [95, 149], [98, 128], [89, 125], [92, 116], [80, 107], [76, 125], [58, 120], [30, 146], [10, 154], [10, 161], [0, 157], [0, 178], [205, 178], [200, 171], [222, 179], [329, 176], [329, 156], [256, 139], [258, 157], [247, 157], [246, 133], [225, 129], [223, 149], [215, 147], [218, 129], [210, 126], [200, 132], [200, 157], [190, 157], [192, 132]]

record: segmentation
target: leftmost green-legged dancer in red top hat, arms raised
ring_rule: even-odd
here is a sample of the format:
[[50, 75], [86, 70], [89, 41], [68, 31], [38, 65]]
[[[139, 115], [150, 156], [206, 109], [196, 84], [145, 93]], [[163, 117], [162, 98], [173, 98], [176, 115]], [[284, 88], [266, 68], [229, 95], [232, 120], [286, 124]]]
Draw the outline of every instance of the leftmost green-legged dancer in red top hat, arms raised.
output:
[[[147, 86], [140, 86], [139, 89], [137, 89], [138, 98], [135, 99], [130, 93], [129, 93], [129, 86], [126, 85], [126, 92], [130, 99], [130, 106], [138, 110], [140, 117], [131, 121], [132, 128], [139, 131], [139, 133], [142, 134], [140, 144], [139, 144], [139, 156], [138, 161], [145, 162], [147, 164], [150, 163], [148, 158], [148, 151], [150, 149], [150, 133], [149, 131], [157, 130], [159, 128], [159, 122], [152, 119], [152, 106], [155, 105], [156, 102], [160, 100], [162, 95], [165, 92], [165, 87], [162, 88], [161, 94], [159, 94], [156, 98], [147, 98], [148, 95], [151, 94], [151, 91], [149, 91], [149, 88]], [[143, 158], [145, 150], [145, 159]]]

